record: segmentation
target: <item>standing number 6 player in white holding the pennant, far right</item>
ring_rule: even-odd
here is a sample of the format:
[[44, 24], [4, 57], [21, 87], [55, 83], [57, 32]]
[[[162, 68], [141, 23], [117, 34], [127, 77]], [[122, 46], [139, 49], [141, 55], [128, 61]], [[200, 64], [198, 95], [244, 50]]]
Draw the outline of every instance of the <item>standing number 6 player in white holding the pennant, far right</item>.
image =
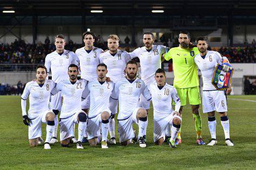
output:
[[[208, 114], [208, 126], [211, 134], [209, 146], [217, 144], [216, 140], [216, 119], [215, 110], [220, 114], [220, 122], [225, 134], [225, 143], [227, 146], [233, 146], [230, 139], [230, 124], [227, 117], [227, 100], [224, 90], [216, 90], [212, 85], [212, 77], [217, 64], [224, 65], [224, 71], [229, 71], [231, 65], [226, 57], [222, 57], [217, 51], [207, 50], [208, 43], [205, 37], [197, 39], [197, 48], [200, 54], [194, 58], [195, 63], [202, 72], [203, 77], [203, 112]], [[231, 92], [231, 87], [227, 93]]]

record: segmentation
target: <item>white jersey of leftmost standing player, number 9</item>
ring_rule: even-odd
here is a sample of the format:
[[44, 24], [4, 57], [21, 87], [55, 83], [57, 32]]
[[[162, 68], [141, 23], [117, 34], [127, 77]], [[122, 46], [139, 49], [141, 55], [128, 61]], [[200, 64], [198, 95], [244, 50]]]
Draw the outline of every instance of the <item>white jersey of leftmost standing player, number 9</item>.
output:
[[73, 51], [64, 50], [62, 55], [59, 55], [57, 51], [53, 51], [45, 57], [45, 66], [47, 72], [52, 72], [52, 80], [59, 83], [63, 80], [68, 80], [68, 66], [70, 64], [78, 65], [77, 55]]

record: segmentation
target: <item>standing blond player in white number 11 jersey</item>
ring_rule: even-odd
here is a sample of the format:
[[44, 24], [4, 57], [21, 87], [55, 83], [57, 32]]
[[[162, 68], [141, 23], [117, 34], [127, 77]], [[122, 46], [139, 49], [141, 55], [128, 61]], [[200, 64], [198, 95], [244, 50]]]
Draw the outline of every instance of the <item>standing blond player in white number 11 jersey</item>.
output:
[[[118, 49], [119, 38], [117, 35], [108, 36], [108, 49], [105, 53], [100, 54], [100, 63], [107, 65], [108, 73], [107, 77], [114, 83], [124, 78], [124, 69], [126, 63], [130, 60], [130, 55], [127, 51]], [[115, 141], [115, 114], [117, 113], [117, 101], [110, 99], [109, 109], [112, 111], [112, 116], [109, 121], [109, 134], [110, 144], [116, 144]]]

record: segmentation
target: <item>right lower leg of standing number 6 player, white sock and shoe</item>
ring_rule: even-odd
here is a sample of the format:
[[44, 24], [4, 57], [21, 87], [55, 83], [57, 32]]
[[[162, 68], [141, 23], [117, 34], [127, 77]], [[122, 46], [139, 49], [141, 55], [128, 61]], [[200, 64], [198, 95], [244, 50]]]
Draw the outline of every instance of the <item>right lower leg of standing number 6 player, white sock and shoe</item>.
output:
[[225, 143], [227, 146], [234, 146], [233, 142], [230, 139], [230, 122], [229, 122], [229, 117], [227, 117], [226, 112], [219, 112], [220, 114], [220, 121], [222, 123], [222, 127], [224, 130], [225, 134]]

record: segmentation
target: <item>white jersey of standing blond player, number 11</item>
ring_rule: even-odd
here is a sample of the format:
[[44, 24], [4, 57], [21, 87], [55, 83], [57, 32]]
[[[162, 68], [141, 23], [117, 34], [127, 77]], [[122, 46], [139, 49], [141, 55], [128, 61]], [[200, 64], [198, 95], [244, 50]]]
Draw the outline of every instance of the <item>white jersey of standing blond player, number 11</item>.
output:
[[115, 56], [109, 53], [109, 50], [100, 54], [100, 63], [107, 65], [108, 73], [107, 77], [116, 83], [117, 80], [124, 78], [124, 69], [126, 68], [126, 63], [130, 60], [130, 55], [127, 51], [117, 50]]

